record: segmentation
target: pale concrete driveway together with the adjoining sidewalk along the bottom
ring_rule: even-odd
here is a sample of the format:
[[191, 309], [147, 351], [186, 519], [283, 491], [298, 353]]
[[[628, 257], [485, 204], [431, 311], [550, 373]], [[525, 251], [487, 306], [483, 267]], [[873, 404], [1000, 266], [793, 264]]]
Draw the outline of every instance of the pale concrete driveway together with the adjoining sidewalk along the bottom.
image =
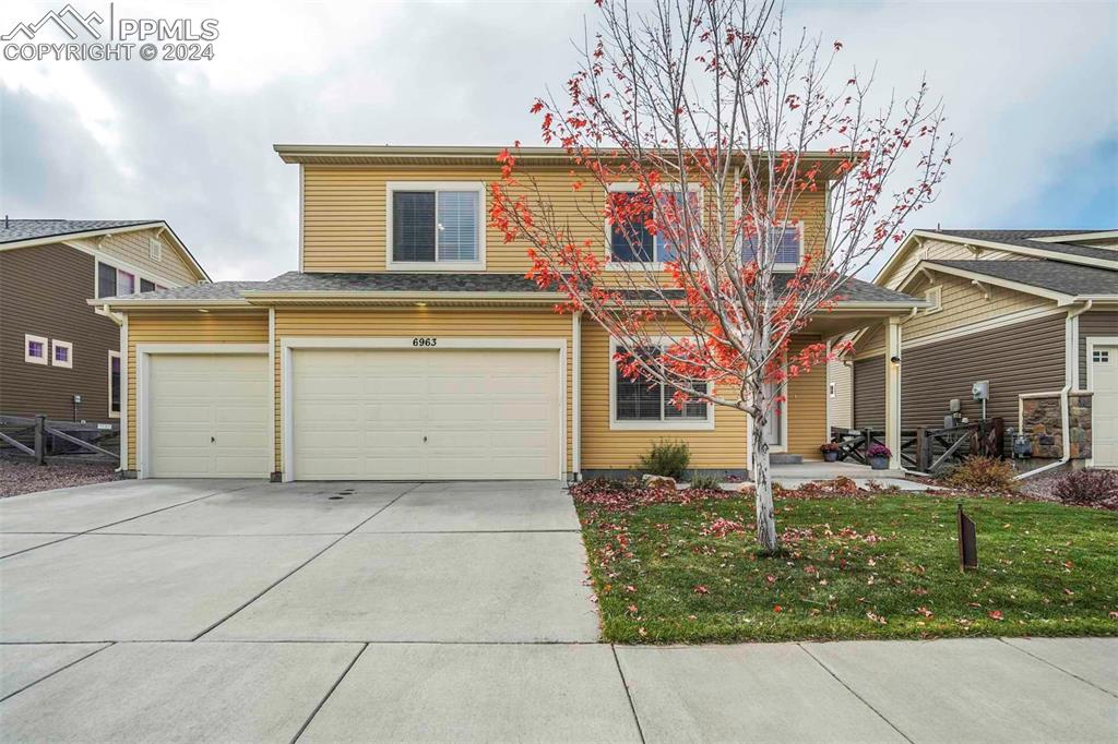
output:
[[614, 648], [556, 483], [0, 500], [3, 741], [1114, 741], [1114, 640]]

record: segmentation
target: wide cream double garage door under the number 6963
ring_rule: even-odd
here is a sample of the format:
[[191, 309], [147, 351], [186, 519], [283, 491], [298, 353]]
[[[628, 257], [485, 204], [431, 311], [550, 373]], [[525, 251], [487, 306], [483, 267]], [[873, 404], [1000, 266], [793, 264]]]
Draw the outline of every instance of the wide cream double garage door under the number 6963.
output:
[[559, 352], [293, 350], [293, 477], [558, 478]]

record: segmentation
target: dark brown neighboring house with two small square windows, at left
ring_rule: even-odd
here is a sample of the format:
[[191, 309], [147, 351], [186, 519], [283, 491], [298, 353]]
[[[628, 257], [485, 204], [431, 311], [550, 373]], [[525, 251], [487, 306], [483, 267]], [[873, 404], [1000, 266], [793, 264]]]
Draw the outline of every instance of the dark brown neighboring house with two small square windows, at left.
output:
[[208, 282], [160, 220], [0, 220], [0, 414], [121, 416], [121, 327], [93, 297]]

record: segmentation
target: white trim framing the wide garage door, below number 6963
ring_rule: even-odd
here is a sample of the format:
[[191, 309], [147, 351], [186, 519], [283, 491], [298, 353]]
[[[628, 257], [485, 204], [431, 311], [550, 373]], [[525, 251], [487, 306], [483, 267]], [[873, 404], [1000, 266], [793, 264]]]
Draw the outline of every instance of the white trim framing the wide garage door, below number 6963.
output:
[[414, 336], [281, 336], [280, 337], [280, 401], [281, 401], [281, 451], [283, 452], [283, 480], [291, 483], [296, 479], [295, 452], [292, 414], [292, 355], [293, 352], [305, 349], [354, 349], [354, 350], [395, 350], [414, 351], [416, 354], [437, 354], [440, 351], [455, 350], [524, 350], [556, 351], [559, 355], [559, 480], [565, 480], [567, 473], [567, 338], [566, 337], [527, 337], [527, 338], [485, 338], [475, 336], [415, 336], [436, 337], [437, 346], [415, 346]]

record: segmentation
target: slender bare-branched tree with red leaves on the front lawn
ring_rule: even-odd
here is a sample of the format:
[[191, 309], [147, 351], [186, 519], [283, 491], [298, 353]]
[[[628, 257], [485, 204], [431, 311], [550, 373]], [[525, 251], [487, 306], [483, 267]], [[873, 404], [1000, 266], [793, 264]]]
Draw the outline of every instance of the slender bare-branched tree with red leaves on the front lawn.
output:
[[556, 203], [518, 143], [491, 223], [527, 241], [529, 276], [566, 295], [561, 311], [609, 333], [626, 378], [748, 414], [757, 538], [776, 551], [766, 425], [786, 380], [828, 359], [793, 336], [902, 238], [953, 137], [926, 84], [873, 106], [872, 75], [836, 79], [842, 44], [786, 32], [773, 2], [596, 4], [565, 93], [531, 107], [585, 208]]

